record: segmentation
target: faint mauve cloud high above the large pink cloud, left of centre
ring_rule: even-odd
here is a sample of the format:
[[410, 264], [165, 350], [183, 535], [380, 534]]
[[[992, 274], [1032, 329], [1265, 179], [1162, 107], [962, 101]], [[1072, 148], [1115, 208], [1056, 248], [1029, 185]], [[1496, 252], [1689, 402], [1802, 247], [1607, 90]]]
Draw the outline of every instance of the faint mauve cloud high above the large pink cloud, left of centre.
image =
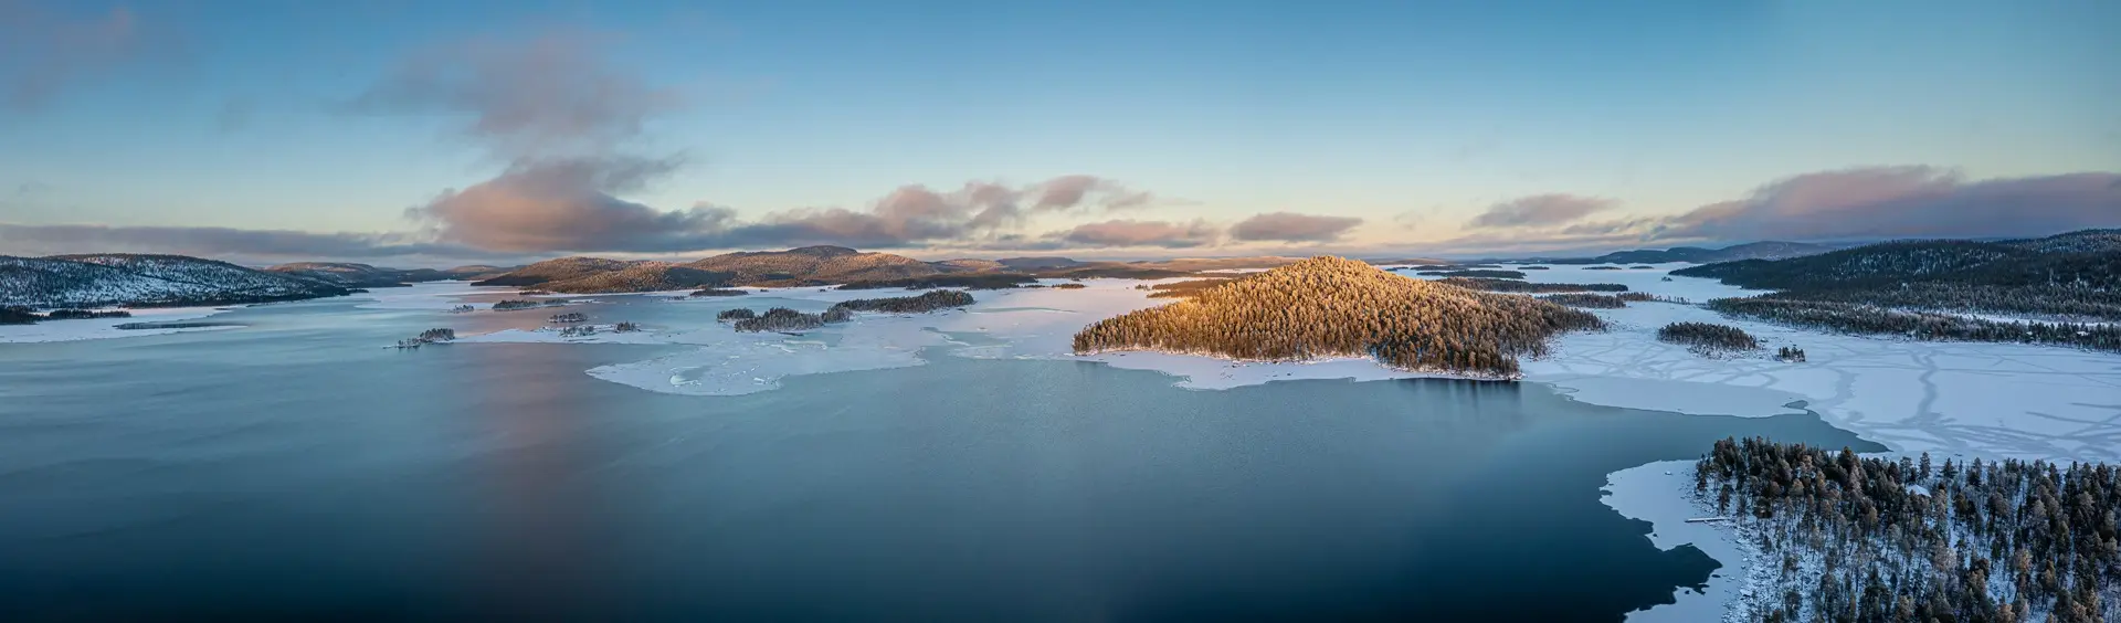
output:
[[473, 38], [414, 53], [348, 102], [367, 114], [458, 117], [460, 134], [505, 159], [607, 155], [685, 106], [607, 59], [611, 36], [543, 32]]

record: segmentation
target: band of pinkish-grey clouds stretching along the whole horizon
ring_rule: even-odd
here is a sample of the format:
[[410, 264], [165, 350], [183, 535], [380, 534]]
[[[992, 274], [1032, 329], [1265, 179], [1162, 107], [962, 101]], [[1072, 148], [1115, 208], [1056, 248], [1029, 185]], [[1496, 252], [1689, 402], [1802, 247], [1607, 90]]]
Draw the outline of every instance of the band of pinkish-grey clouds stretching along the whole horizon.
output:
[[[435, 225], [422, 233], [305, 233], [223, 227], [4, 225], [4, 252], [138, 250], [286, 259], [380, 256], [541, 256], [556, 252], [698, 252], [842, 244], [857, 248], [942, 248], [984, 252], [1037, 250], [1175, 250], [1222, 244], [1332, 244], [1360, 220], [1290, 212], [1256, 214], [1230, 227], [1209, 220], [1107, 218], [1046, 233], [1001, 231], [1003, 214], [1039, 210], [1130, 210], [1145, 193], [1092, 176], [1063, 176], [1058, 186], [1103, 186], [1058, 193], [1056, 182], [1005, 186], [967, 182], [957, 191], [901, 186], [863, 210], [810, 208], [742, 220], [730, 208], [694, 206], [662, 212], [611, 197], [662, 176], [666, 161], [534, 161], [503, 176], [452, 191], [414, 208]], [[556, 186], [539, 186], [564, 178]], [[1097, 180], [1084, 184], [1084, 180]], [[556, 191], [558, 189], [558, 191]], [[590, 189], [579, 193], [579, 189]], [[568, 195], [566, 191], [575, 191]], [[2121, 227], [2121, 174], [2064, 174], [1966, 180], [1941, 167], [1860, 167], [1816, 172], [1763, 184], [1743, 199], [1701, 206], [1676, 216], [1614, 216], [1610, 208], [1531, 208], [1502, 201], [1506, 214], [1548, 214], [1553, 220], [1508, 218], [1508, 227], [1379, 252], [1510, 252], [1610, 250], [1697, 242], [1877, 239], [1877, 237], [2036, 237], [2074, 229]], [[1533, 199], [1533, 197], [1527, 197]], [[1603, 199], [1599, 199], [1603, 201]], [[594, 206], [592, 206], [594, 203]], [[588, 206], [588, 208], [583, 208]], [[1044, 206], [1044, 208], [1041, 208]], [[505, 208], [505, 210], [496, 210]], [[1544, 212], [1542, 212], [1544, 210]], [[1495, 214], [1491, 208], [1487, 214]], [[1485, 216], [1485, 214], [1483, 214]]]

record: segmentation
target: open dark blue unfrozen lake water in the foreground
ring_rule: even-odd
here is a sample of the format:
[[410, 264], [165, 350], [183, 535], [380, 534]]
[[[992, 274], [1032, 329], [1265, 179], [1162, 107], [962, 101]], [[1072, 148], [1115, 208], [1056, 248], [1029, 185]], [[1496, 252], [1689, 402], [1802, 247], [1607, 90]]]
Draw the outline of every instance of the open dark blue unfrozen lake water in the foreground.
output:
[[[713, 314], [649, 305], [598, 314]], [[1650, 547], [1606, 473], [1875, 449], [1536, 384], [931, 352], [717, 398], [583, 375], [677, 345], [380, 348], [520, 314], [0, 345], [0, 619], [1620, 621], [1716, 564]]]

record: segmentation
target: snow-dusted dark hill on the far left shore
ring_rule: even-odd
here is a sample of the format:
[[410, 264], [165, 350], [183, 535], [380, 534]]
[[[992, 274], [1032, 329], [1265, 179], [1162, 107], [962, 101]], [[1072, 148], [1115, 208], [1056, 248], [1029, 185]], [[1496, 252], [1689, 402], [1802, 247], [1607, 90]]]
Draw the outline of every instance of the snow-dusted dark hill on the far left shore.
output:
[[178, 307], [297, 301], [346, 286], [176, 254], [0, 256], [0, 305]]

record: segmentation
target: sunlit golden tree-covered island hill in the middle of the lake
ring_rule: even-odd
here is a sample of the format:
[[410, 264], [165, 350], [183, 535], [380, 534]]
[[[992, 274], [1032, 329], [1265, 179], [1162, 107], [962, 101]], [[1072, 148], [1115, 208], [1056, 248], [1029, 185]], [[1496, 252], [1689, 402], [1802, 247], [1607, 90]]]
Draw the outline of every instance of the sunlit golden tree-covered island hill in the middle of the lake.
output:
[[1128, 312], [1075, 333], [1075, 352], [1160, 350], [1237, 360], [1364, 356], [1406, 371], [1514, 377], [1597, 316], [1548, 301], [1408, 280], [1368, 263], [1317, 256]]

